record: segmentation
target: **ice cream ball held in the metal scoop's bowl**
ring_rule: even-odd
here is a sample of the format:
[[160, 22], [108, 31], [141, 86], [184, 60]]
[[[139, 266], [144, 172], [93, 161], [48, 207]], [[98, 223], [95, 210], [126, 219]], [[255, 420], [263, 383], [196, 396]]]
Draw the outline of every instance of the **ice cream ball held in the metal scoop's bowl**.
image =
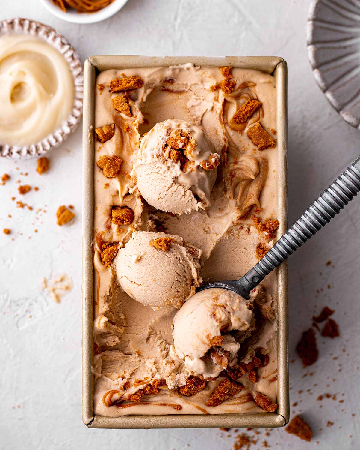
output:
[[[235, 364], [240, 342], [253, 330], [250, 305], [250, 301], [226, 289], [196, 293], [174, 317], [173, 359], [182, 360], [191, 374], [217, 377]], [[236, 340], [231, 330], [237, 330]]]

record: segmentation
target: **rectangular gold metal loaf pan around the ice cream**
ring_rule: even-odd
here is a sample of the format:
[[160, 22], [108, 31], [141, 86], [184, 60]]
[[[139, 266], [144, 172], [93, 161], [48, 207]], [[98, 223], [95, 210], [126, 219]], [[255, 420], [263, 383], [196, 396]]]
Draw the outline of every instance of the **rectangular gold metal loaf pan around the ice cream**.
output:
[[84, 63], [83, 211], [82, 211], [82, 416], [89, 428], [272, 428], [289, 421], [288, 281], [286, 261], [277, 276], [277, 404], [276, 413], [176, 414], [104, 417], [93, 413], [93, 211], [94, 211], [94, 106], [95, 79], [99, 72], [134, 67], [164, 67], [184, 63], [197, 66], [234, 66], [272, 74], [276, 81], [278, 143], [279, 233], [287, 229], [287, 65], [276, 56], [91, 56]]

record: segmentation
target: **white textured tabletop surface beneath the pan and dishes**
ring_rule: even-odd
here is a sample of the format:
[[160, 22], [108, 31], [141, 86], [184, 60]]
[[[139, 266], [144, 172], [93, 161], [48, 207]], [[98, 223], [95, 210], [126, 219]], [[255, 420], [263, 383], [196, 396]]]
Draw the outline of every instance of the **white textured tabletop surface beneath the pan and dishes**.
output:
[[[311, 74], [307, 1], [129, 0], [114, 17], [93, 25], [58, 20], [38, 0], [1, 3], [1, 19], [21, 16], [49, 24], [67, 36], [83, 60], [91, 54], [282, 56], [289, 65], [289, 223], [360, 153], [359, 131], [338, 117]], [[0, 175], [12, 176], [0, 186], [0, 229], [13, 229], [11, 236], [0, 233], [0, 448], [232, 448], [233, 431], [227, 437], [216, 429], [91, 430], [83, 425], [80, 129], [50, 154], [50, 162], [49, 173], [40, 177], [35, 161], [0, 160]], [[19, 176], [20, 171], [29, 175]], [[33, 211], [17, 209], [11, 201], [11, 196], [20, 199], [17, 179], [39, 186], [39, 192], [22, 198]], [[56, 209], [69, 203], [76, 221], [60, 228]], [[47, 212], [36, 214], [45, 204]], [[262, 432], [251, 448], [261, 447], [263, 439], [276, 449], [360, 447], [359, 215], [356, 198], [289, 261], [289, 356], [295, 360], [290, 405], [298, 402], [291, 410], [304, 414], [314, 439], [307, 444], [278, 429], [270, 437]], [[325, 266], [328, 260], [334, 267]], [[62, 271], [72, 276], [74, 289], [57, 305], [41, 292], [41, 278]], [[317, 311], [325, 305], [336, 309], [341, 337], [318, 339], [320, 358], [304, 370], [294, 347], [311, 325], [315, 305]], [[336, 393], [337, 400], [316, 401], [325, 392]]]

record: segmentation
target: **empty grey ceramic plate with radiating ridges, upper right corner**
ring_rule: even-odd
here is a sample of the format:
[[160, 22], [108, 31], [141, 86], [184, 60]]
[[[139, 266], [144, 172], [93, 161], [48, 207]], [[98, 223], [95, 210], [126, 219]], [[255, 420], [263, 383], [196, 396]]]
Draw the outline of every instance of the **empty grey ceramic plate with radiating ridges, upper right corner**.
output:
[[360, 0], [311, 0], [307, 51], [320, 89], [360, 129]]

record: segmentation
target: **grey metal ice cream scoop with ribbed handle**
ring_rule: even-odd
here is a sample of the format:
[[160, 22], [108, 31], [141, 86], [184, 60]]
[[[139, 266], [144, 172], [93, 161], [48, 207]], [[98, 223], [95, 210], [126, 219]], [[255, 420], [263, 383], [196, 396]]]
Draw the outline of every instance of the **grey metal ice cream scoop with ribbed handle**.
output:
[[360, 157], [311, 204], [302, 216], [276, 244], [242, 278], [232, 281], [215, 281], [201, 286], [198, 291], [224, 288], [249, 299], [255, 288], [272, 270], [280, 266], [295, 250], [324, 227], [360, 191]]

